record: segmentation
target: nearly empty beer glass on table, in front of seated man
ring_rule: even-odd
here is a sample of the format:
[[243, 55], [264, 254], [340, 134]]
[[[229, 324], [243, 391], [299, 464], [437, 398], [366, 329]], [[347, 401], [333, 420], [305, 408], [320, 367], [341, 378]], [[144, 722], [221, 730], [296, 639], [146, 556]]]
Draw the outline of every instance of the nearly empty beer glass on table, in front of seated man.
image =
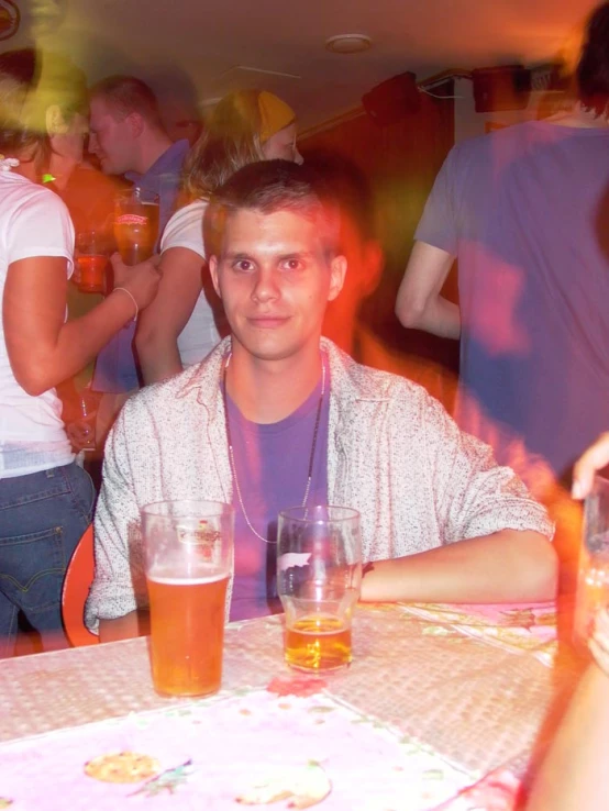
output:
[[351, 621], [361, 584], [356, 510], [323, 504], [279, 513], [277, 590], [286, 613], [288, 665], [322, 671], [351, 663]]

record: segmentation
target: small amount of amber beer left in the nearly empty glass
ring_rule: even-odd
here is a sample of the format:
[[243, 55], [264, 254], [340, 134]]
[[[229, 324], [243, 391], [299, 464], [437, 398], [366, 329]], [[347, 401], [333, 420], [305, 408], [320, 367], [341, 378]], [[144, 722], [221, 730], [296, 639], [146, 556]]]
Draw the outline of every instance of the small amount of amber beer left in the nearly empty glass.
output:
[[300, 670], [333, 670], [348, 665], [351, 625], [337, 616], [313, 614], [287, 623], [286, 662]]

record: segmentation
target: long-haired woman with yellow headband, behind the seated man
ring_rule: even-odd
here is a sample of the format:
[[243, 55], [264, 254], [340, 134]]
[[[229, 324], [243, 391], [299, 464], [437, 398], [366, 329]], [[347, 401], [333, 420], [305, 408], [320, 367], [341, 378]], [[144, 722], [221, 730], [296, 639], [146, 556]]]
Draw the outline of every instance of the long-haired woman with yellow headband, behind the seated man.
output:
[[185, 164], [187, 204], [163, 234], [159, 295], [137, 325], [135, 345], [145, 384], [199, 363], [219, 342], [223, 314], [209, 284], [203, 246], [209, 198], [247, 164], [274, 158], [302, 163], [296, 132], [294, 110], [265, 90], [225, 96], [206, 122]]

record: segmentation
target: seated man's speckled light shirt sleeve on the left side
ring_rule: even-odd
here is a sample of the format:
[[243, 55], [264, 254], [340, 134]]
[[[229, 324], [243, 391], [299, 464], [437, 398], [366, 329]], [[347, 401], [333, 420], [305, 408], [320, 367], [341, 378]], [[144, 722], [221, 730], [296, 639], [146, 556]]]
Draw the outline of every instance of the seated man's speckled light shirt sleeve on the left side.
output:
[[95, 633], [99, 620], [114, 620], [147, 604], [140, 507], [126, 443], [132, 406], [125, 404], [106, 443], [95, 519], [96, 571], [85, 609], [85, 623]]

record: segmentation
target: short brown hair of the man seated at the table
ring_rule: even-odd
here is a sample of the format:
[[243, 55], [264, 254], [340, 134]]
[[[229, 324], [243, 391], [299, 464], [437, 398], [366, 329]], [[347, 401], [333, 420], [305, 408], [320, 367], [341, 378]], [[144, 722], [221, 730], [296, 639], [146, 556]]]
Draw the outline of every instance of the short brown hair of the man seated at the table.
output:
[[213, 193], [206, 213], [204, 235], [209, 256], [219, 256], [226, 221], [237, 211], [274, 214], [278, 211], [311, 220], [326, 257], [339, 253], [340, 213], [321, 175], [291, 160], [261, 160], [244, 166]]

